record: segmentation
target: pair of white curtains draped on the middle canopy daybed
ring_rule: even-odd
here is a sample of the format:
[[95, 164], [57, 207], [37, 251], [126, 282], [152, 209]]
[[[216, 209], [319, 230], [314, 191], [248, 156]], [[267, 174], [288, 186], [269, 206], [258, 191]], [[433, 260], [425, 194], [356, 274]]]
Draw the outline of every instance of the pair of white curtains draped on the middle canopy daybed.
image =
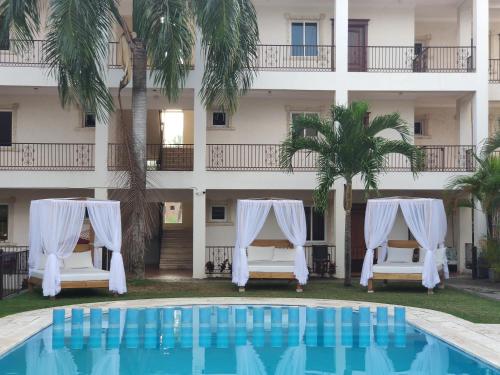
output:
[[271, 207], [286, 238], [295, 246], [294, 275], [300, 284], [307, 282], [309, 271], [304, 253], [307, 228], [304, 205], [298, 200], [240, 199], [236, 208], [236, 245], [233, 253], [233, 283], [245, 286], [248, 277], [246, 248], [257, 238]]

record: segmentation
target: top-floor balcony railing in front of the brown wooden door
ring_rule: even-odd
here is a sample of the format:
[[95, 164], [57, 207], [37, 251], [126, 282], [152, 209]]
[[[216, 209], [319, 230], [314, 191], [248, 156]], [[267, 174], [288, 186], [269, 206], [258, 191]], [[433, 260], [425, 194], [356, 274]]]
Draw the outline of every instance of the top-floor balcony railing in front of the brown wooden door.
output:
[[467, 73], [475, 47], [349, 46], [351, 72]]

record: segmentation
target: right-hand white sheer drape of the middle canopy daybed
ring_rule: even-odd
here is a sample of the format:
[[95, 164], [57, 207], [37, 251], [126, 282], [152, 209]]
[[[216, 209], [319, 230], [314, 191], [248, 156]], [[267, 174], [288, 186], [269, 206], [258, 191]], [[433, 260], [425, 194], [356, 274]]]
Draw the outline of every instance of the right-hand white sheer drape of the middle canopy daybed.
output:
[[279, 227], [288, 241], [295, 246], [295, 265], [293, 273], [297, 281], [307, 283], [306, 255], [304, 245], [307, 239], [306, 215], [302, 201], [282, 200], [273, 201], [274, 214]]

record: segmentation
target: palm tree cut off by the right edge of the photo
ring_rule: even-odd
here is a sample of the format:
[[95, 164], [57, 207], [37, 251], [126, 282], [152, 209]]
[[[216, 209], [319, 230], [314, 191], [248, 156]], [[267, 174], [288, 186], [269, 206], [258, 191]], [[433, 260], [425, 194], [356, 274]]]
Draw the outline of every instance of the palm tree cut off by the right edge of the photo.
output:
[[446, 188], [454, 206], [476, 208], [481, 203], [486, 215], [487, 236], [494, 233], [500, 210], [500, 132], [488, 138], [479, 154], [473, 154], [477, 168], [473, 174], [453, 177]]

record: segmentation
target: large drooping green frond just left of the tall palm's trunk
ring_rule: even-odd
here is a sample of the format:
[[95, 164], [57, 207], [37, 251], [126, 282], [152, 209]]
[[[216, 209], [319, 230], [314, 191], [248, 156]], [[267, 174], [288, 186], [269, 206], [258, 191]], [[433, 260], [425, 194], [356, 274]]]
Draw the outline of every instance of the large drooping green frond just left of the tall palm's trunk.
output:
[[116, 6], [115, 0], [53, 0], [48, 14], [45, 52], [63, 106], [76, 103], [101, 119], [114, 109], [105, 70]]

